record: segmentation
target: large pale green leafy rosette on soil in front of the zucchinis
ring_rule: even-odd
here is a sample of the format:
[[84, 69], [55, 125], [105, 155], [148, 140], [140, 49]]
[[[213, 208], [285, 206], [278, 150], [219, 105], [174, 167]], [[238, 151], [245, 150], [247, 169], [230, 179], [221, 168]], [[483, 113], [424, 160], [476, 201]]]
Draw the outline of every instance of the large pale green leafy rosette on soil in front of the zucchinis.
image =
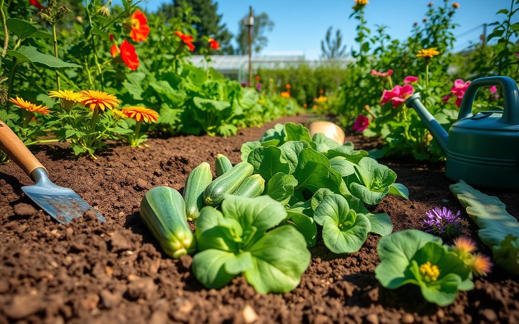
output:
[[288, 292], [310, 262], [303, 235], [280, 226], [283, 206], [269, 198], [227, 195], [222, 212], [203, 207], [195, 235], [193, 273], [207, 288], [221, 288], [243, 273], [257, 292]]

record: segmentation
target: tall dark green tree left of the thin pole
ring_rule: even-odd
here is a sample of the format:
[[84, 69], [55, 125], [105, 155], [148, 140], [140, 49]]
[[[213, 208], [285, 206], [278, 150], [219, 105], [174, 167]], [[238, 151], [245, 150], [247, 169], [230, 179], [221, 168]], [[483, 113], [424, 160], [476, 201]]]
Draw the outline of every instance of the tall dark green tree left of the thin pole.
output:
[[195, 44], [195, 52], [198, 53], [202, 47], [207, 47], [201, 37], [213, 37], [220, 43], [223, 53], [233, 53], [233, 47], [230, 44], [233, 34], [227, 30], [226, 24], [222, 24], [222, 15], [218, 15], [218, 4], [213, 0], [172, 0], [170, 4], [162, 4], [157, 10], [157, 15], [170, 19], [173, 17], [184, 17], [183, 3], [193, 8], [192, 15], [200, 21], [195, 22], [193, 27], [197, 31], [197, 40]]

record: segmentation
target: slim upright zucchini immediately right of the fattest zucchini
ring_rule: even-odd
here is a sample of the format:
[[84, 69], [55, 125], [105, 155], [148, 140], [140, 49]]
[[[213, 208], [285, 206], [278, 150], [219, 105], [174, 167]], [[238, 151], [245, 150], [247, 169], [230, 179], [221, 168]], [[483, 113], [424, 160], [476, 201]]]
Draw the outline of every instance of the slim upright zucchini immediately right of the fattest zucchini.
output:
[[189, 173], [183, 194], [187, 220], [196, 220], [200, 215], [200, 209], [203, 207], [203, 191], [206, 190], [212, 180], [213, 173], [207, 162], [201, 163]]

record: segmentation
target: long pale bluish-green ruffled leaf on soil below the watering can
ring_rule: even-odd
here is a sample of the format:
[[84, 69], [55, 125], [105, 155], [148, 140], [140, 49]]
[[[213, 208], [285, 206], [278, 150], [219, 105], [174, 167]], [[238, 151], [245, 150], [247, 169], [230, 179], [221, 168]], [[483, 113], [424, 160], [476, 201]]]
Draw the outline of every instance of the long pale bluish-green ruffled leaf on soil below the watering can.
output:
[[449, 186], [467, 214], [480, 227], [477, 235], [492, 249], [494, 261], [512, 274], [519, 274], [519, 223], [507, 213], [497, 197], [489, 196], [460, 180]]

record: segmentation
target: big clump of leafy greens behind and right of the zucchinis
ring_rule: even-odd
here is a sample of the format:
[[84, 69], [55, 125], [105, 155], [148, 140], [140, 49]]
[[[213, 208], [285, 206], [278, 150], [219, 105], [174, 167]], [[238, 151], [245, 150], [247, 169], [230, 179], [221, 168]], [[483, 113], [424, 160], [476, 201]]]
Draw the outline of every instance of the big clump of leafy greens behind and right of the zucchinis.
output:
[[[285, 206], [285, 223], [300, 231], [308, 246], [316, 244], [319, 224], [331, 251], [357, 251], [367, 233], [387, 235], [393, 228], [387, 214], [371, 214], [364, 204], [378, 204], [389, 193], [408, 196], [407, 188], [394, 184], [396, 174], [367, 158], [366, 151], [322, 134], [310, 138], [301, 124], [276, 124], [259, 142], [244, 143], [241, 152], [267, 182], [266, 194]], [[349, 181], [356, 174], [359, 178]]]

